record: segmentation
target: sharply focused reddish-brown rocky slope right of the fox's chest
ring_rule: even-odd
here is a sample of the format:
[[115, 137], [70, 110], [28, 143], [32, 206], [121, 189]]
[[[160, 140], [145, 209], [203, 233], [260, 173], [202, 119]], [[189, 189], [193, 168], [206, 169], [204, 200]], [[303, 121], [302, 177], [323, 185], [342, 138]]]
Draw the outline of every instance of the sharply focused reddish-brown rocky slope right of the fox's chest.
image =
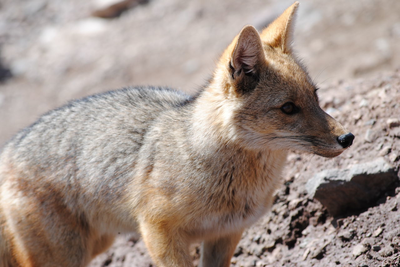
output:
[[[322, 106], [329, 106], [332, 116], [356, 135], [350, 151], [333, 160], [292, 154], [272, 212], [245, 234], [233, 259], [236, 265], [400, 266], [400, 71], [334, 88], [333, 98], [322, 96]], [[374, 166], [380, 157], [390, 167]], [[357, 171], [360, 165], [365, 165], [363, 171]], [[332, 169], [349, 169], [356, 175], [352, 182], [341, 179], [338, 185], [326, 175]], [[321, 171], [324, 181], [319, 182], [325, 187], [316, 190], [322, 190], [324, 198], [347, 201], [335, 210], [335, 217], [328, 210], [342, 203], [328, 203], [327, 210], [310, 195], [310, 181]], [[363, 175], [368, 183], [376, 183], [363, 191], [379, 192], [362, 196], [360, 206], [351, 188], [353, 183], [365, 185]]]

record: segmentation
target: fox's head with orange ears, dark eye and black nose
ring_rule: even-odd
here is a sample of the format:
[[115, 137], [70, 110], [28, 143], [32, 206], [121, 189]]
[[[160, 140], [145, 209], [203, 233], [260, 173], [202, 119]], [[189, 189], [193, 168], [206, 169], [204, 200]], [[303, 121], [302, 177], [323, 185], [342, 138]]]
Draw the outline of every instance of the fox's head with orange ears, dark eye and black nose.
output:
[[245, 26], [220, 58], [209, 93], [223, 99], [219, 123], [246, 147], [335, 157], [354, 135], [320, 108], [318, 88], [292, 53], [297, 7], [261, 33]]

